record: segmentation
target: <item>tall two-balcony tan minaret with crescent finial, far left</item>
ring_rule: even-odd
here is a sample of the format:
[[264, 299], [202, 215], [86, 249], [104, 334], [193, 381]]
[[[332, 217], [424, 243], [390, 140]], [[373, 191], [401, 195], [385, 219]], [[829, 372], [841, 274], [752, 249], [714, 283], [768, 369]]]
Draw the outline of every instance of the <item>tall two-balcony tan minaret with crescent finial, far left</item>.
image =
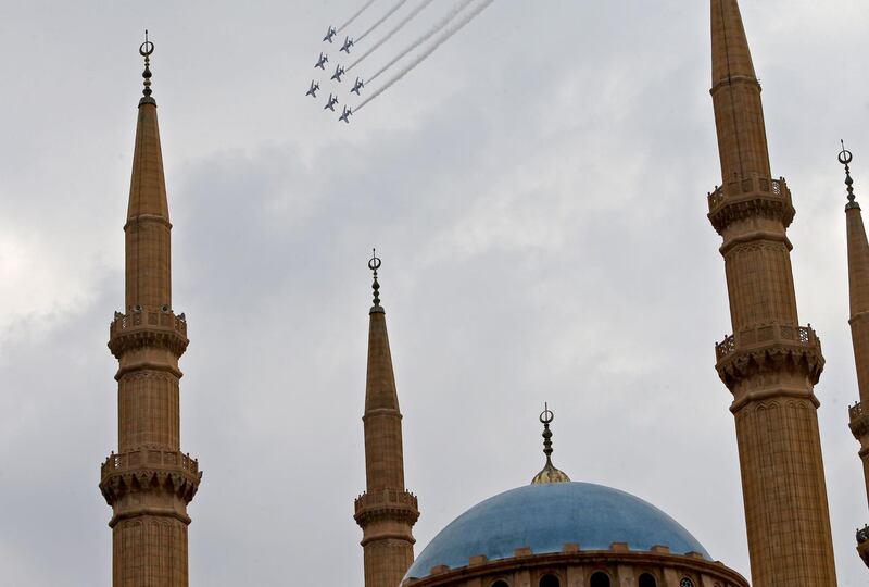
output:
[[187, 504], [202, 473], [180, 451], [178, 359], [187, 348], [185, 315], [172, 308], [166, 185], [151, 97], [148, 40], [139, 100], [126, 240], [126, 307], [109, 326], [117, 358], [117, 452], [102, 465], [100, 490], [112, 507], [115, 587], [187, 586]]

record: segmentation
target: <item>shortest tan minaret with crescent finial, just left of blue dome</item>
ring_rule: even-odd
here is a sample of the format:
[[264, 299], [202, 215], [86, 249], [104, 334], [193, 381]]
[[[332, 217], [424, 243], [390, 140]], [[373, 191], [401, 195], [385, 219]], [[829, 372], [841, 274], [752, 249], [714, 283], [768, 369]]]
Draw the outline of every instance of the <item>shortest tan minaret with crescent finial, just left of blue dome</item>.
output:
[[377, 270], [369, 312], [368, 375], [365, 383], [365, 473], [367, 490], [356, 499], [355, 520], [362, 527], [365, 587], [398, 587], [414, 561], [412, 528], [419, 519], [416, 496], [404, 488], [401, 412], [389, 351], [387, 321], [380, 305]]

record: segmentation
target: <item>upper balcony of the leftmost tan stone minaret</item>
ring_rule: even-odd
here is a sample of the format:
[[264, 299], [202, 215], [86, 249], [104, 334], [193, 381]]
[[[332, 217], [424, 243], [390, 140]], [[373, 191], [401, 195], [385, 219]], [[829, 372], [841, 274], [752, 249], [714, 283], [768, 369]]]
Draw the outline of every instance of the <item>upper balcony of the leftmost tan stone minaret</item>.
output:
[[176, 316], [167, 307], [115, 312], [109, 324], [109, 348], [118, 359], [129, 349], [146, 346], [165, 347], [180, 355], [188, 342], [186, 316]]

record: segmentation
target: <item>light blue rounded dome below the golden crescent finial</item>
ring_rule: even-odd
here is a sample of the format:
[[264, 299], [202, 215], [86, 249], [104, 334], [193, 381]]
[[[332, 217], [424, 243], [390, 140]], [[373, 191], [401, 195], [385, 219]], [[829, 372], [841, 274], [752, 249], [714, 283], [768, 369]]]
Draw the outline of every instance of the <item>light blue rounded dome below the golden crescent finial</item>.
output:
[[627, 542], [630, 550], [648, 551], [660, 545], [675, 554], [698, 552], [711, 560], [678, 522], [640, 498], [590, 483], [556, 483], [519, 487], [478, 503], [431, 540], [405, 577], [427, 577], [441, 564], [467, 566], [479, 554], [509, 559], [524, 547], [534, 554], [562, 552], [571, 542], [582, 550]]

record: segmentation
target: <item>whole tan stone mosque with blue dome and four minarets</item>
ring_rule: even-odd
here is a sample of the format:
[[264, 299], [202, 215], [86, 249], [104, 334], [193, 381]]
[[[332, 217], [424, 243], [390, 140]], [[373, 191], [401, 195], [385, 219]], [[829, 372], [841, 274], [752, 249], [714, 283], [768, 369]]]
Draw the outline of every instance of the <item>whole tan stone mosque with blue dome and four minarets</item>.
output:
[[[768, 155], [760, 85], [738, 0], [710, 0], [711, 97], [721, 186], [708, 193], [733, 335], [716, 370], [733, 396], [755, 587], [836, 585], [814, 394], [821, 342], [797, 316], [786, 228], [795, 210]], [[113, 585], [188, 585], [187, 505], [202, 473], [181, 451], [178, 360], [187, 320], [172, 305], [166, 187], [146, 41], [129, 208], [126, 302], [110, 326], [118, 360], [118, 447], [100, 489], [113, 511]], [[861, 402], [849, 426], [869, 490], [869, 242], [846, 166], [851, 327]], [[369, 311], [364, 437], [366, 490], [355, 500], [365, 587], [747, 587], [677, 521], [618, 489], [571, 482], [553, 464], [554, 414], [544, 410], [544, 466], [525, 487], [461, 514], [414, 555], [417, 497], [404, 479], [402, 415], [377, 271]], [[869, 405], [869, 403], [867, 403]], [[530, 472], [529, 472], [530, 473]], [[529, 475], [530, 476], [530, 475]], [[434, 501], [437, 498], [431, 497]], [[339, 504], [340, 505], [340, 504]], [[332, 547], [335, 548], [335, 547]], [[351, 548], [349, 545], [347, 548]], [[869, 565], [869, 528], [857, 534]]]

